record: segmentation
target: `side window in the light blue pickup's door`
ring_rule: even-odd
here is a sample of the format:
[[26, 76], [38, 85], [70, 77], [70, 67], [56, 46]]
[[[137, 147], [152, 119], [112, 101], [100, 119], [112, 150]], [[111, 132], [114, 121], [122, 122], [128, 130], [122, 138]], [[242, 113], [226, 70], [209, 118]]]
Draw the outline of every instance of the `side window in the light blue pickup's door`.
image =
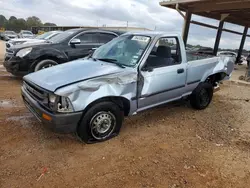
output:
[[176, 37], [160, 38], [152, 49], [146, 67], [158, 68], [173, 66], [181, 63], [181, 53]]

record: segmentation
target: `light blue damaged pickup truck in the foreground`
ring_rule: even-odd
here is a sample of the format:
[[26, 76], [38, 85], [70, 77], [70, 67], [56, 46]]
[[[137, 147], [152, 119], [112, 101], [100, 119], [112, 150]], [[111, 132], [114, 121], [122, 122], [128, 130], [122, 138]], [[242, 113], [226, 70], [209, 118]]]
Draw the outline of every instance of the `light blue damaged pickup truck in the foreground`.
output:
[[116, 136], [124, 116], [164, 103], [189, 98], [205, 109], [233, 68], [229, 57], [188, 62], [179, 35], [132, 32], [88, 58], [25, 76], [22, 97], [47, 127], [93, 143]]

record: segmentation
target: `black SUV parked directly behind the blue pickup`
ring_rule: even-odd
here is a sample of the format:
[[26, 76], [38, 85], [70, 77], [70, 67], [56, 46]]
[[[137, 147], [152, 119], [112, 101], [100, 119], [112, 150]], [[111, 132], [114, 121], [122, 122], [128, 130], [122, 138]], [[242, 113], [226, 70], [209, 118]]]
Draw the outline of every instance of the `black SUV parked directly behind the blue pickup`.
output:
[[12, 46], [6, 51], [4, 66], [14, 75], [25, 75], [83, 58], [120, 34], [120, 31], [108, 30], [67, 30], [46, 43]]

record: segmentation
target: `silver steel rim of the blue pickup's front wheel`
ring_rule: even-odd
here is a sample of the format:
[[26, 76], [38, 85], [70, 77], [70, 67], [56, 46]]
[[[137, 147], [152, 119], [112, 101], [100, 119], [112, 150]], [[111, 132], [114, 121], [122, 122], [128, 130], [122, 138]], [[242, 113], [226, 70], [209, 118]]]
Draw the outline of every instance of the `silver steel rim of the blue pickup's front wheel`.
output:
[[90, 121], [90, 130], [92, 136], [97, 140], [103, 140], [109, 137], [116, 126], [116, 118], [111, 112], [98, 112]]

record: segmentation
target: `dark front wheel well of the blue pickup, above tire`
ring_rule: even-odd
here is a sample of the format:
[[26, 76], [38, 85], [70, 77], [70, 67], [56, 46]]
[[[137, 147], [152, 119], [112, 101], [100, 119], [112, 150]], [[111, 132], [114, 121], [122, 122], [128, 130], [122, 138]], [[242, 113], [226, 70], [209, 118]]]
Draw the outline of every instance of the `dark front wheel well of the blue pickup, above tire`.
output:
[[85, 114], [88, 111], [88, 109], [90, 109], [92, 106], [94, 106], [97, 103], [104, 102], [104, 101], [110, 101], [110, 102], [117, 104], [124, 111], [124, 115], [128, 116], [129, 111], [130, 111], [130, 102], [128, 99], [126, 99], [124, 97], [104, 97], [104, 98], [98, 99], [98, 100], [90, 103], [85, 108], [83, 113]]

